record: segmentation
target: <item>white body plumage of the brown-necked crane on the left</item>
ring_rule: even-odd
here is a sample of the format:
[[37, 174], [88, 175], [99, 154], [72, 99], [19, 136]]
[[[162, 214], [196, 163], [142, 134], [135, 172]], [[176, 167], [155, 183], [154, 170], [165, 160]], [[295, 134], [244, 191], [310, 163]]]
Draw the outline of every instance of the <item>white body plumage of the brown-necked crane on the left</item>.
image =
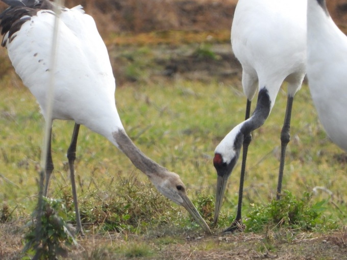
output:
[[[106, 46], [92, 17], [81, 8], [65, 10], [58, 20], [52, 117], [74, 120], [116, 144], [111, 133], [123, 126], [114, 105], [115, 79]], [[7, 43], [16, 73], [36, 97], [44, 117], [55, 19], [52, 13], [38, 11]], [[28, 41], [30, 44], [23, 44]]]

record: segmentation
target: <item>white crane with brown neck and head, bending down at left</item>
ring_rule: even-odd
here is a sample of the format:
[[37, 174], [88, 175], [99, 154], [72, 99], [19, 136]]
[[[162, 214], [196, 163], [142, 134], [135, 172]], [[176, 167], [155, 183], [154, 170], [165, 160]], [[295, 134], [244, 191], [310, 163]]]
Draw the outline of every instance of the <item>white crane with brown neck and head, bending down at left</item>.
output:
[[[2, 46], [8, 49], [16, 73], [36, 97], [46, 118], [46, 92], [51, 73], [49, 64], [56, 16], [53, 3], [47, 0], [2, 1], [10, 5], [0, 15], [0, 26], [4, 34]], [[126, 134], [115, 106], [115, 79], [110, 59], [93, 18], [84, 14], [81, 6], [61, 8], [61, 11], [58, 19], [52, 120], [75, 121], [67, 158], [78, 231], [83, 234], [73, 164], [80, 124], [83, 124], [118, 147], [147, 175], [160, 193], [184, 206], [195, 221], [210, 232], [208, 225], [189, 200], [179, 175], [146, 157]], [[47, 195], [53, 169], [49, 142], [44, 195]]]

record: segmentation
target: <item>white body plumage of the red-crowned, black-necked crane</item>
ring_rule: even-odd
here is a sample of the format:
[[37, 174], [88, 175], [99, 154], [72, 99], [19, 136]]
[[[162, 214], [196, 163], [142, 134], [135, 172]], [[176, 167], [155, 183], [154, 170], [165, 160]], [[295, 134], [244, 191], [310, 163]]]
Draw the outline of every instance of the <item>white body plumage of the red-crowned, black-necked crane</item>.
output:
[[242, 65], [242, 87], [247, 99], [267, 88], [271, 108], [283, 81], [293, 96], [305, 75], [305, 0], [239, 0], [231, 43]]

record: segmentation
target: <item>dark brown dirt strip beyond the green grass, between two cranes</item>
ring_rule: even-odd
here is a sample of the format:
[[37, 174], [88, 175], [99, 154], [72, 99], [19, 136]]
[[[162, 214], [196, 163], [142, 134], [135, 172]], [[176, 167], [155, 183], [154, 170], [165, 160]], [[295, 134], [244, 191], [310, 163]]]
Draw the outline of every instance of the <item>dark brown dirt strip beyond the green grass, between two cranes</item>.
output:
[[241, 66], [232, 54], [230, 43], [204, 45], [111, 46], [109, 52], [117, 86], [170, 79], [239, 82]]

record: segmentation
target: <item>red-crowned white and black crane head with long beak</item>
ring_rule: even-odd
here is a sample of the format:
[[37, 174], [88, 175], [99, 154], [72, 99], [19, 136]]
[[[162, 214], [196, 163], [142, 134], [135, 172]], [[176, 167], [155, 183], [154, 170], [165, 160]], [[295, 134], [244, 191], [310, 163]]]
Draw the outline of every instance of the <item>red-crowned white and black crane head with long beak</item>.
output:
[[215, 149], [213, 166], [217, 171], [217, 185], [214, 224], [217, 223], [227, 182], [239, 158], [242, 142], [243, 135], [235, 127]]

